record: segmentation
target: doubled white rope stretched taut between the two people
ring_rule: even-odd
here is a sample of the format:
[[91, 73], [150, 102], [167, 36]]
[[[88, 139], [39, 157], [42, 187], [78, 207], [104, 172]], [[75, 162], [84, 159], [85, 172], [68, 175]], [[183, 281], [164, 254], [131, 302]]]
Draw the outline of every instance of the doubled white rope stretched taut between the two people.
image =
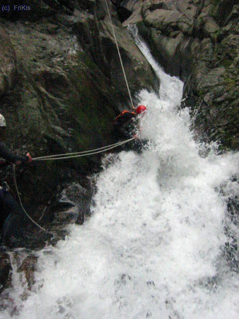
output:
[[99, 154], [102, 152], [106, 152], [109, 150], [112, 150], [120, 145], [123, 145], [125, 143], [128, 143], [130, 141], [134, 140], [134, 138], [122, 141], [122, 142], [118, 142], [112, 145], [108, 145], [108, 146], [104, 146], [102, 148], [98, 148], [95, 150], [89, 150], [89, 151], [84, 151], [84, 152], [76, 152], [76, 153], [66, 153], [66, 154], [57, 154], [57, 155], [49, 155], [49, 156], [42, 156], [42, 157], [38, 157], [38, 158], [33, 158], [32, 160], [64, 160], [64, 159], [73, 159], [73, 158], [79, 158], [79, 157], [83, 157], [83, 156], [89, 156], [89, 155], [95, 155], [95, 154]]

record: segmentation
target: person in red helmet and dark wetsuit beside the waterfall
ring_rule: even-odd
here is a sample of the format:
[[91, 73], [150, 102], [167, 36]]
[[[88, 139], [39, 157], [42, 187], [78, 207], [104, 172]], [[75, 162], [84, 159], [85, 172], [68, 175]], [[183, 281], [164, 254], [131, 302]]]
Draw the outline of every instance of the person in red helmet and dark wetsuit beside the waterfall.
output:
[[135, 112], [124, 110], [115, 119], [113, 134], [117, 141], [124, 141], [134, 137], [135, 140], [124, 144], [123, 150], [133, 150], [140, 154], [142, 153], [143, 147], [147, 144], [147, 141], [141, 140], [137, 135], [139, 131], [137, 115], [144, 113], [147, 109], [144, 105], [132, 108]]

